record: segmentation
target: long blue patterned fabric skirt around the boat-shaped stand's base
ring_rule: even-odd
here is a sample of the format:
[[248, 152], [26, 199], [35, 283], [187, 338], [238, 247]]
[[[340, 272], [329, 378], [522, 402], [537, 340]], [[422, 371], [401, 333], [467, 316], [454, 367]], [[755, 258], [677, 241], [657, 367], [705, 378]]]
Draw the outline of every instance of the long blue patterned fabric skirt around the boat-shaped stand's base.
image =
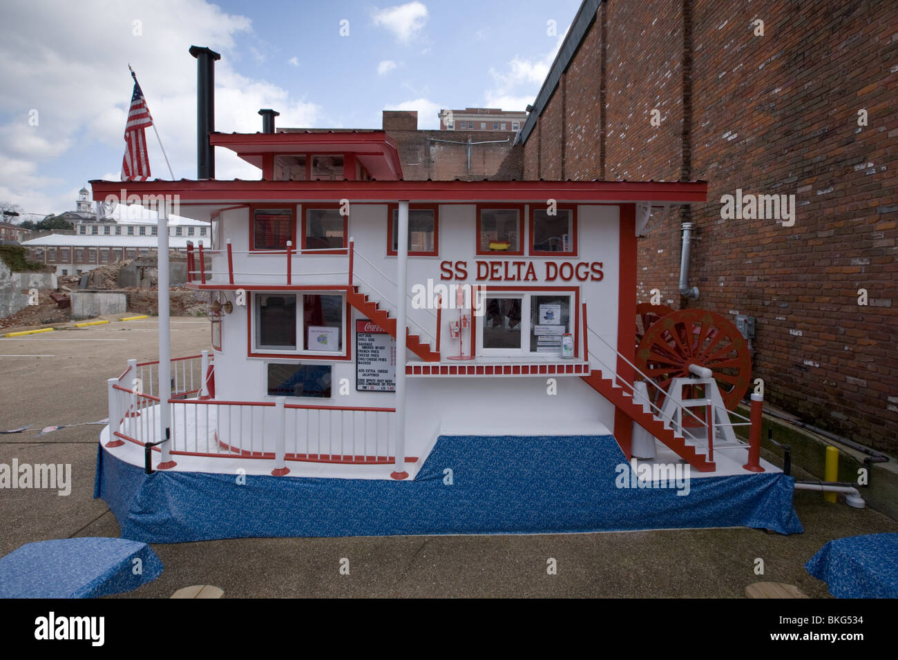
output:
[[[612, 436], [441, 436], [413, 481], [297, 479], [157, 471], [102, 447], [94, 497], [121, 533], [153, 543], [253, 536], [550, 533], [676, 527], [801, 532], [781, 473], [618, 488]], [[289, 463], [288, 463], [289, 464]], [[451, 485], [448, 483], [451, 469]]]

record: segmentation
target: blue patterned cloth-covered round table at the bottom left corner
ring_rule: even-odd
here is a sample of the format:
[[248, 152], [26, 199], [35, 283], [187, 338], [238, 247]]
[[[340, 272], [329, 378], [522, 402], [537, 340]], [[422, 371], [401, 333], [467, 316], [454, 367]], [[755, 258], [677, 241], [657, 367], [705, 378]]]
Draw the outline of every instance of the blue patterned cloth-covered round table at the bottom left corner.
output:
[[26, 543], [0, 559], [0, 598], [96, 598], [153, 582], [163, 563], [146, 543], [84, 537]]

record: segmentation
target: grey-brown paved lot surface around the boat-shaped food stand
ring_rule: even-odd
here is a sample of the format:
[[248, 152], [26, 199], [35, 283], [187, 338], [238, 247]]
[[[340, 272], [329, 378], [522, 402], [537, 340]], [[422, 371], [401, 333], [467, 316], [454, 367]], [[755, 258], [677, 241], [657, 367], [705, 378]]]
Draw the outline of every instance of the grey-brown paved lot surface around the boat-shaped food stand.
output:
[[[208, 348], [208, 321], [172, 320], [172, 356]], [[126, 360], [155, 358], [156, 321], [113, 322], [0, 339], [0, 463], [71, 463], [72, 493], [0, 490], [0, 556], [23, 543], [75, 536], [118, 536], [119, 524], [93, 499], [97, 434], [85, 425], [36, 437], [42, 427], [107, 415], [107, 378]], [[770, 457], [771, 460], [772, 457]], [[798, 478], [808, 475], [796, 470]], [[805, 533], [744, 528], [515, 536], [394, 536], [240, 539], [154, 545], [163, 575], [124, 597], [168, 597], [210, 584], [225, 597], [259, 596], [561, 596], [741, 597], [758, 581], [786, 582], [827, 597], [805, 563], [823, 543], [856, 534], [898, 532], [872, 509], [823, 502], [798, 492]], [[340, 575], [348, 559], [349, 575]], [[557, 575], [547, 560], [556, 559]], [[764, 574], [755, 575], [755, 559]]]

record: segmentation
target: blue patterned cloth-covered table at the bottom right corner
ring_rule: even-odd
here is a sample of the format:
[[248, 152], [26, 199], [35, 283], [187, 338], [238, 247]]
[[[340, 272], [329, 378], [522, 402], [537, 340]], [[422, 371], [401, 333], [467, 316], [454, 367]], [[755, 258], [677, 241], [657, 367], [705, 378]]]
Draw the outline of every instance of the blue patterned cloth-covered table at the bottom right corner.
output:
[[829, 541], [805, 568], [836, 598], [898, 598], [898, 534]]

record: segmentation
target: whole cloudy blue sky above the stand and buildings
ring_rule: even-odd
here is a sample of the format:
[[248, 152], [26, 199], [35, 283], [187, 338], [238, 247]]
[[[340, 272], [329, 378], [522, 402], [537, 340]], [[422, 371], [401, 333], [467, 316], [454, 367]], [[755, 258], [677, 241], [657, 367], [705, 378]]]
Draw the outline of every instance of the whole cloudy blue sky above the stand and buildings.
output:
[[[119, 179], [129, 62], [175, 177], [194, 178], [191, 44], [223, 56], [217, 130], [259, 130], [263, 107], [285, 127], [380, 128], [383, 110], [410, 109], [436, 128], [440, 108], [533, 102], [579, 4], [4, 0], [0, 202], [59, 213], [87, 180]], [[147, 137], [154, 177], [170, 178]], [[216, 168], [258, 177], [233, 154], [216, 154]]]

